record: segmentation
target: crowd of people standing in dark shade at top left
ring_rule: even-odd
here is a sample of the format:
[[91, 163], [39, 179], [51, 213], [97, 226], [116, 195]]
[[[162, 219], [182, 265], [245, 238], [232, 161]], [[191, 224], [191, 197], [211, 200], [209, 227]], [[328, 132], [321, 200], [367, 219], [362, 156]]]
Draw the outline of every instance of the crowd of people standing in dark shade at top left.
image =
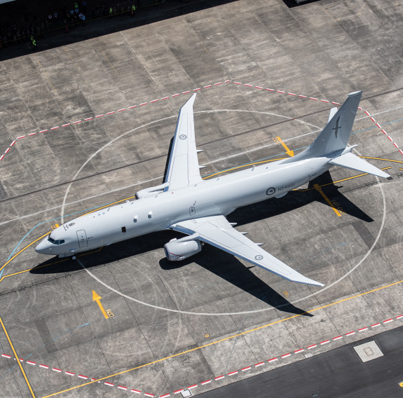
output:
[[71, 29], [85, 27], [88, 20], [123, 15], [133, 17], [140, 5], [140, 0], [124, 0], [110, 6], [89, 6], [86, 0], [78, 0], [40, 17], [32, 15], [30, 20], [6, 18], [0, 20], [0, 50], [20, 43], [28, 43], [35, 50], [38, 41], [46, 35], [69, 33]]

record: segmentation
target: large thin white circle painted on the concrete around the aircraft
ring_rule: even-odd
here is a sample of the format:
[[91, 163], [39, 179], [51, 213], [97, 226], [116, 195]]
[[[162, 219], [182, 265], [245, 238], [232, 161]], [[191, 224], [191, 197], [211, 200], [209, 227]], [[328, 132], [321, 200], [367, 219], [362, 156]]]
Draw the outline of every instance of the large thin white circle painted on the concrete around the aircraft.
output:
[[[270, 115], [270, 116], [278, 116], [280, 118], [286, 118], [289, 120], [294, 120], [294, 121], [298, 121], [299, 123], [303, 123], [306, 125], [310, 125], [313, 126], [315, 128], [318, 128], [317, 126], [313, 125], [312, 123], [308, 123], [305, 121], [300, 121], [299, 119], [296, 118], [290, 118], [288, 116], [283, 116], [283, 115], [278, 115], [278, 114], [272, 114], [270, 112], [262, 112], [262, 111], [244, 111], [244, 110], [239, 110], [239, 109], [217, 109], [217, 110], [211, 110], [211, 111], [196, 111], [194, 112], [194, 114], [210, 114], [210, 113], [215, 113], [215, 112], [247, 112], [247, 113], [256, 113], [256, 114], [266, 114], [266, 115]], [[63, 224], [63, 219], [64, 219], [64, 207], [66, 205], [66, 200], [67, 200], [67, 195], [69, 194], [69, 190], [71, 188], [71, 184], [74, 183], [74, 180], [78, 177], [78, 174], [81, 173], [81, 171], [83, 170], [84, 167], [86, 167], [86, 165], [90, 162], [90, 160], [92, 160], [95, 156], [97, 156], [98, 153], [100, 153], [101, 151], [103, 151], [105, 148], [107, 148], [107, 146], [113, 144], [114, 142], [116, 142], [118, 139], [121, 139], [122, 137], [124, 137], [125, 135], [130, 134], [131, 132], [134, 132], [136, 130], [139, 130], [140, 128], [144, 128], [146, 126], [149, 125], [153, 125], [155, 123], [159, 123], [160, 121], [166, 121], [170, 118], [177, 118], [176, 115], [173, 116], [168, 116], [166, 118], [160, 118], [156, 121], [152, 121], [150, 123], [146, 123], [144, 125], [138, 126], [137, 128], [133, 128], [132, 130], [129, 130], [127, 132], [124, 132], [123, 134], [119, 135], [118, 137], [111, 139], [111, 141], [109, 141], [107, 144], [105, 144], [104, 146], [102, 146], [100, 149], [98, 149], [97, 151], [95, 151], [95, 153], [93, 153], [93, 155], [91, 155], [86, 162], [78, 169], [78, 172], [76, 172], [76, 174], [74, 175], [74, 177], [71, 179], [71, 182], [69, 183], [69, 185], [67, 186], [66, 192], [64, 193], [64, 198], [63, 198], [63, 203], [62, 203], [62, 212], [61, 212], [61, 221]], [[307, 135], [309, 135], [311, 133], [308, 133]], [[301, 299], [295, 300], [295, 301], [290, 301], [289, 304], [296, 304], [299, 303], [300, 301], [309, 299], [310, 297], [316, 296], [317, 294], [322, 293], [322, 291], [325, 291], [327, 289], [329, 289], [330, 287], [333, 287], [335, 284], [341, 282], [341, 280], [343, 280], [345, 277], [348, 277], [348, 275], [350, 275], [350, 273], [352, 273], [355, 269], [357, 269], [364, 261], [365, 259], [367, 259], [367, 257], [369, 256], [369, 254], [372, 252], [372, 250], [374, 249], [374, 247], [376, 246], [376, 243], [378, 242], [379, 238], [381, 237], [381, 233], [383, 231], [383, 226], [385, 225], [385, 219], [386, 219], [386, 200], [385, 200], [385, 193], [383, 192], [383, 187], [382, 184], [380, 183], [378, 177], [375, 177], [376, 181], [378, 181], [378, 187], [381, 191], [381, 196], [383, 199], [383, 217], [382, 217], [382, 222], [381, 222], [381, 227], [379, 228], [378, 231], [378, 235], [376, 235], [376, 239], [373, 243], [373, 245], [369, 248], [367, 254], [364, 255], [364, 257], [362, 257], [362, 259], [353, 267], [351, 268], [345, 275], [343, 275], [342, 277], [339, 277], [338, 280], [332, 282], [331, 284], [328, 284], [326, 287], [323, 287], [322, 289], [316, 291], [315, 293], [312, 294], [308, 294], [308, 296], [305, 297], [301, 297]], [[270, 188], [269, 188], [270, 189]], [[105, 282], [103, 282], [102, 280], [100, 280], [100, 278], [96, 277], [93, 273], [90, 272], [90, 270], [88, 270], [83, 263], [81, 263], [81, 261], [79, 259], [77, 259], [78, 263], [80, 264], [81, 268], [83, 268], [83, 270], [86, 271], [86, 273], [88, 273], [88, 275], [90, 275], [91, 277], [93, 277], [97, 282], [99, 282], [100, 284], [102, 284], [104, 287], [106, 287], [107, 289], [114, 291], [116, 294], [119, 294], [120, 296], [125, 297], [125, 299], [131, 300], [131, 301], [135, 301], [136, 303], [142, 304], [144, 306], [148, 306], [151, 308], [157, 308], [159, 310], [165, 310], [171, 313], [182, 313], [182, 314], [189, 314], [189, 315], [207, 315], [207, 316], [223, 316], [223, 315], [245, 315], [245, 314], [250, 314], [250, 313], [261, 313], [264, 311], [268, 311], [268, 310], [274, 310], [275, 308], [281, 308], [282, 306], [278, 306], [278, 307], [270, 307], [270, 308], [261, 308], [260, 310], [249, 310], [249, 311], [240, 311], [240, 312], [233, 312], [233, 313], [194, 313], [191, 311], [182, 311], [182, 310], [173, 310], [171, 308], [165, 308], [165, 307], [160, 307], [160, 306], [154, 306], [153, 304], [150, 303], [145, 303], [144, 301], [140, 301], [135, 299], [134, 297], [128, 296], [127, 294], [123, 294], [121, 291], [118, 291], [116, 289], [114, 289], [113, 287], [109, 286], [108, 284], [106, 284]], [[288, 306], [289, 305], [284, 304], [283, 306]]]

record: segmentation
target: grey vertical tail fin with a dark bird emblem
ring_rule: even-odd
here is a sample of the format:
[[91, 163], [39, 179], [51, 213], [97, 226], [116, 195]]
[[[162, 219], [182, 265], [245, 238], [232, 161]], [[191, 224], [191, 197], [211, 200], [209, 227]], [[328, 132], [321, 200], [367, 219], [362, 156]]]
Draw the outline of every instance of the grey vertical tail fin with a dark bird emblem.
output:
[[[339, 111], [330, 118], [329, 122], [308, 148], [311, 157], [333, 155], [346, 149], [348, 138], [360, 104], [362, 91], [351, 92]], [[331, 112], [332, 115], [333, 112]], [[337, 155], [336, 155], [337, 156]], [[333, 157], [333, 156], [329, 156]]]

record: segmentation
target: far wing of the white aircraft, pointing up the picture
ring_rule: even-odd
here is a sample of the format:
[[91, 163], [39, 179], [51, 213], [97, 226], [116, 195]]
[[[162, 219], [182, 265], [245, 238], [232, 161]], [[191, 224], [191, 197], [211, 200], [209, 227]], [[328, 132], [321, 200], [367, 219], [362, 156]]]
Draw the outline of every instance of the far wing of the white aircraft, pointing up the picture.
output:
[[193, 122], [193, 102], [196, 94], [179, 111], [177, 130], [170, 153], [168, 170], [164, 183], [172, 188], [180, 188], [202, 181], [196, 149], [195, 128]]

